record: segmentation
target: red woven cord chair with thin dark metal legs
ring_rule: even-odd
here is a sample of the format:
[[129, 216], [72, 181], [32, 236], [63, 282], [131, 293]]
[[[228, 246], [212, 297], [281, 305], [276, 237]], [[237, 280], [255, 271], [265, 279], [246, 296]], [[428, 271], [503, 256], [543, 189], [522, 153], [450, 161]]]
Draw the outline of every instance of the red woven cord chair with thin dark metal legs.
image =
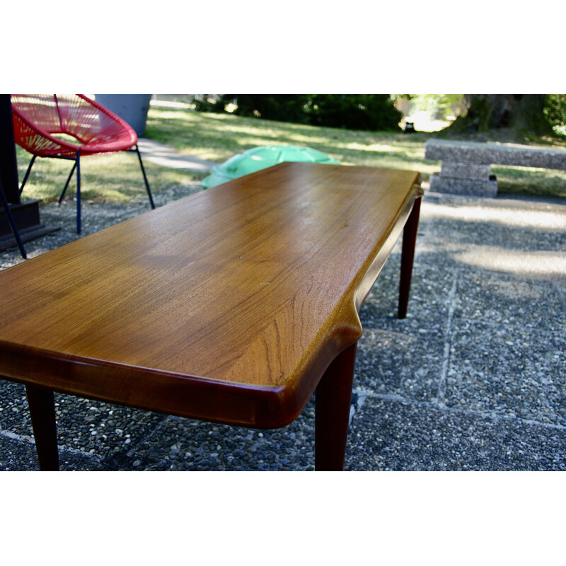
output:
[[13, 94], [11, 103], [16, 144], [32, 154], [20, 193], [36, 157], [74, 160], [59, 204], [76, 169], [76, 231], [81, 233], [80, 158], [134, 149], [144, 175], [149, 204], [155, 208], [137, 147], [137, 134], [122, 118], [83, 94]]

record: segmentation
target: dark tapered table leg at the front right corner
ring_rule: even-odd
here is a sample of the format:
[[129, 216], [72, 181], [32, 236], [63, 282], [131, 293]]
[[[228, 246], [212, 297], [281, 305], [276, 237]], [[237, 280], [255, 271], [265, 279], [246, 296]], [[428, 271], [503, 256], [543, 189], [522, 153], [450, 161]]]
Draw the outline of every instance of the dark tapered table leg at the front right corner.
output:
[[315, 393], [315, 469], [344, 469], [357, 342], [328, 366]]

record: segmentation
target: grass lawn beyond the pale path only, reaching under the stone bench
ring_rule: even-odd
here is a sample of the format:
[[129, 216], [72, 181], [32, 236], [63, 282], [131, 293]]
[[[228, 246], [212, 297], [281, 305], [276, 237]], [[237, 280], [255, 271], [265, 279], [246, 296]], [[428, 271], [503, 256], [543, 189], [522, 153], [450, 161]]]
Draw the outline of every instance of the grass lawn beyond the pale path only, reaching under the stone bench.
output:
[[[440, 171], [439, 161], [424, 158], [424, 143], [434, 137], [424, 132], [354, 132], [152, 105], [146, 135], [182, 154], [219, 163], [259, 145], [296, 144], [323, 151], [345, 165], [419, 171], [424, 181]], [[509, 132], [497, 132], [493, 139], [511, 141], [507, 137]], [[470, 140], [480, 141], [474, 134]], [[566, 146], [560, 139], [531, 139], [529, 143]], [[501, 194], [566, 198], [566, 171], [493, 166], [492, 172], [497, 175]]]

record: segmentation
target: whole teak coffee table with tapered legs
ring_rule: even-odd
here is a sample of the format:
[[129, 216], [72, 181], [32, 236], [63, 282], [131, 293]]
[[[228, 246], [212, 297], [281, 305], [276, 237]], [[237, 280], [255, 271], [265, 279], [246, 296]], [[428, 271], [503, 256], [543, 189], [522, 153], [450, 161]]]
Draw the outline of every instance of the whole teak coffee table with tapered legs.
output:
[[342, 470], [359, 307], [403, 233], [412, 171], [281, 163], [0, 272], [0, 375], [25, 384], [42, 470], [53, 392], [283, 427], [316, 391], [316, 470]]

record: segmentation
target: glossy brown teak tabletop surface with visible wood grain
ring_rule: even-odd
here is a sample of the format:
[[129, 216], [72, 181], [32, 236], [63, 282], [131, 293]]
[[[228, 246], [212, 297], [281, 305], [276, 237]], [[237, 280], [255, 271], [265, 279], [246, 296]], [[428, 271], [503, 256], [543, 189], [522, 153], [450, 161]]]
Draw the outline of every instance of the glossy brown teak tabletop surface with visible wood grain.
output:
[[282, 163], [22, 262], [0, 273], [0, 352], [289, 386], [361, 335], [417, 181]]

